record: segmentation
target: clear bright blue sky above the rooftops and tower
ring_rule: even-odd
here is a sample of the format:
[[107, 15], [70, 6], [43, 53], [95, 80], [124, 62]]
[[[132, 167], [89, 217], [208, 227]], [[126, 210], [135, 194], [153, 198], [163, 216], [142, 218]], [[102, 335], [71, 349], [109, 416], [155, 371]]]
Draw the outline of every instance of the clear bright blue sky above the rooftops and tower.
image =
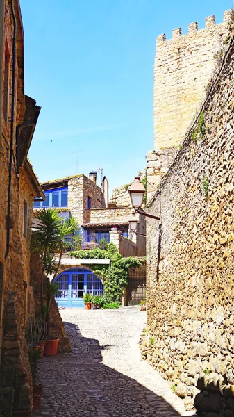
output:
[[42, 106], [29, 153], [40, 181], [101, 166], [110, 189], [131, 182], [153, 149], [156, 37], [209, 15], [220, 23], [231, 5], [21, 0], [25, 93]]

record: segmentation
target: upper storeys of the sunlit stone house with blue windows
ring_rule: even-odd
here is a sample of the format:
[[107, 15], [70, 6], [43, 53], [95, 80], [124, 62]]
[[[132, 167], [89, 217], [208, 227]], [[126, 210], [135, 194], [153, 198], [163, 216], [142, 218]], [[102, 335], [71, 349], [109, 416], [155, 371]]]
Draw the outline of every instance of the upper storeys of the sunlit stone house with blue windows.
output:
[[[98, 245], [101, 238], [105, 238], [110, 243], [110, 230], [112, 227], [116, 227], [119, 233], [123, 235], [123, 238], [119, 238], [119, 240], [122, 240], [122, 245], [118, 243], [118, 248], [124, 247], [125, 249], [122, 252], [126, 254], [126, 247], [129, 247], [129, 254], [144, 256], [145, 237], [134, 234], [129, 227], [129, 218], [133, 215], [133, 207], [131, 204], [115, 206], [113, 202], [109, 203], [105, 187], [102, 186], [100, 188], [97, 186], [94, 174], [94, 172], [91, 172], [90, 177], [80, 174], [74, 177], [41, 183], [47, 199], [44, 202], [35, 202], [35, 208], [54, 206], [53, 203], [56, 202], [57, 205], [55, 206], [65, 218], [68, 218], [69, 215], [76, 218], [81, 226], [83, 247], [85, 249], [94, 247], [95, 244]], [[128, 187], [125, 188], [125, 193], [128, 193]], [[56, 196], [53, 197], [53, 195], [65, 192], [67, 192], [67, 200], [62, 206], [60, 204], [62, 198], [58, 197], [56, 199]], [[130, 201], [130, 197], [128, 197], [128, 200]], [[145, 220], [143, 216], [137, 213], [135, 215], [138, 220], [137, 231], [145, 234]], [[131, 239], [134, 245], [130, 248], [130, 245], [127, 245], [124, 238]], [[124, 242], [126, 245], [124, 245]], [[135, 250], [133, 250], [133, 247]]]

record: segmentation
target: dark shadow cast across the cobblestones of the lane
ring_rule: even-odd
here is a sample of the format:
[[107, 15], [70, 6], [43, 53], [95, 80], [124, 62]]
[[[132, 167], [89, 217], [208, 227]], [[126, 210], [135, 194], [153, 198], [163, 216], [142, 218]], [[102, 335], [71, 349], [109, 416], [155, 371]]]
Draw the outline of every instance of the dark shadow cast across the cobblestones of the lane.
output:
[[35, 416], [172, 417], [180, 416], [162, 397], [103, 365], [99, 341], [84, 338], [65, 323], [72, 352], [40, 361], [44, 397]]

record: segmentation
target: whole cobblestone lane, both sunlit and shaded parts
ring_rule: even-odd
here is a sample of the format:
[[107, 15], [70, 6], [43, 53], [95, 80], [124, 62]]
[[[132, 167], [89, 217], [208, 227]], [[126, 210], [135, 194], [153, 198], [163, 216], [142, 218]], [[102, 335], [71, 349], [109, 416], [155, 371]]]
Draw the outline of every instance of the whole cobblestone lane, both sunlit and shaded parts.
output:
[[141, 361], [137, 342], [146, 314], [117, 310], [65, 309], [72, 353], [44, 357], [44, 395], [36, 417], [191, 416], [160, 375]]

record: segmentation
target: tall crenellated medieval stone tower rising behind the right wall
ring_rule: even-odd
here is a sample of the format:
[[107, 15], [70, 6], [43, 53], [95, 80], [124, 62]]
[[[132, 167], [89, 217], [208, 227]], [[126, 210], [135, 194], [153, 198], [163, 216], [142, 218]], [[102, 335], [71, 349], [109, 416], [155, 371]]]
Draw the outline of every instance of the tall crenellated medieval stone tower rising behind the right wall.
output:
[[154, 150], [147, 154], [147, 197], [150, 199], [167, 172], [178, 147], [183, 142], [199, 105], [206, 97], [216, 57], [228, 33], [231, 10], [224, 12], [221, 24], [215, 16], [206, 17], [206, 27], [197, 22], [165, 34], [156, 41], [153, 88]]

